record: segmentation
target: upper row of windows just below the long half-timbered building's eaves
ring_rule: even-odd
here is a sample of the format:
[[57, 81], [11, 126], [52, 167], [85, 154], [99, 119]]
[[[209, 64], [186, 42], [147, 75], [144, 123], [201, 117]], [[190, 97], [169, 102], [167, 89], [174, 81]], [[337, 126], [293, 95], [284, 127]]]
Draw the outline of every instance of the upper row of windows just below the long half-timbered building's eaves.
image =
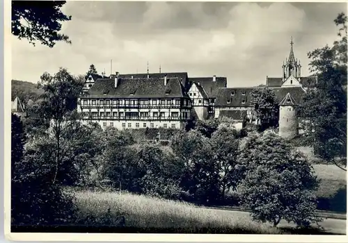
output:
[[[90, 102], [88, 102], [90, 101]], [[96, 106], [97, 104], [99, 104], [100, 106], [110, 106], [111, 103], [113, 105], [125, 105], [125, 106], [139, 106], [143, 105], [143, 106], [148, 106], [150, 105], [150, 100], [139, 100], [138, 99], [132, 99], [132, 100], [122, 100], [122, 99], [100, 99], [99, 102], [97, 102], [97, 99], [92, 99], [92, 100], [88, 100], [88, 99], [83, 99], [82, 100], [82, 104], [84, 104], [84, 106], [87, 105], [94, 105]], [[176, 105], [176, 106], [180, 106], [180, 99], [175, 99], [175, 100], [171, 100], [171, 99], [161, 99], [159, 100], [159, 102], [157, 102], [157, 99], [152, 99], [152, 106], [157, 106], [157, 104], [161, 105], [161, 106], [172, 106], [172, 105]], [[184, 102], [184, 104], [189, 105], [189, 100], [186, 100], [186, 102]]]

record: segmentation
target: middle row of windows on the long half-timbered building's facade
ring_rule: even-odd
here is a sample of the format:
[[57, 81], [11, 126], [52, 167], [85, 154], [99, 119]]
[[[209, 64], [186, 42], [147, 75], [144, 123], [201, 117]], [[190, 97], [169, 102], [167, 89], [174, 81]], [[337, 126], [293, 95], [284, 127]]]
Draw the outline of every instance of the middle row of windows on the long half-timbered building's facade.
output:
[[[111, 118], [112, 117], [150, 117], [150, 112], [90, 112], [91, 117]], [[88, 112], [85, 112], [85, 117], [89, 116]], [[166, 112], [152, 112], [152, 117], [166, 117]], [[179, 117], [179, 112], [168, 113], [168, 117]], [[182, 112], [182, 117], [187, 118], [188, 112]]]

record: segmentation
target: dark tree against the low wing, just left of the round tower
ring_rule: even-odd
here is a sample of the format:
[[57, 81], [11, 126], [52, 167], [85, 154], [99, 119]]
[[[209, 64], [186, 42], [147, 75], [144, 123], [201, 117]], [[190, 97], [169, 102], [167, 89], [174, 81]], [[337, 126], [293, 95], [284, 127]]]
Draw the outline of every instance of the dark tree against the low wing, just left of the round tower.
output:
[[276, 104], [276, 94], [268, 87], [255, 88], [251, 92], [251, 104], [260, 125], [263, 129], [273, 126], [278, 106]]

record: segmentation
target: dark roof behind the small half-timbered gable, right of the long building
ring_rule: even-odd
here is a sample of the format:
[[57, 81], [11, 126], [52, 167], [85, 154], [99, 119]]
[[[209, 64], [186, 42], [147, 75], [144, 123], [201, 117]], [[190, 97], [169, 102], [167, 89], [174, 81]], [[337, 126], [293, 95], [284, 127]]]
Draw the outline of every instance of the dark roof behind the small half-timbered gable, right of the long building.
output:
[[215, 99], [217, 97], [220, 87], [227, 87], [226, 77], [216, 77], [216, 81], [213, 81], [213, 77], [189, 78], [189, 81], [199, 83], [207, 93], [209, 99]]

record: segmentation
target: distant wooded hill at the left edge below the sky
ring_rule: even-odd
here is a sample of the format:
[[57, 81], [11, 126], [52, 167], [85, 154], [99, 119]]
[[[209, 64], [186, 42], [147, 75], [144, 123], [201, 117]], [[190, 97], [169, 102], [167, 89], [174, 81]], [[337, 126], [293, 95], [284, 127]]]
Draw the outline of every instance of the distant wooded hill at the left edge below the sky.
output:
[[19, 99], [26, 104], [29, 99], [33, 101], [37, 100], [43, 92], [41, 88], [38, 89], [36, 83], [18, 80], [11, 81], [11, 100], [14, 100], [15, 97], [19, 97]]

